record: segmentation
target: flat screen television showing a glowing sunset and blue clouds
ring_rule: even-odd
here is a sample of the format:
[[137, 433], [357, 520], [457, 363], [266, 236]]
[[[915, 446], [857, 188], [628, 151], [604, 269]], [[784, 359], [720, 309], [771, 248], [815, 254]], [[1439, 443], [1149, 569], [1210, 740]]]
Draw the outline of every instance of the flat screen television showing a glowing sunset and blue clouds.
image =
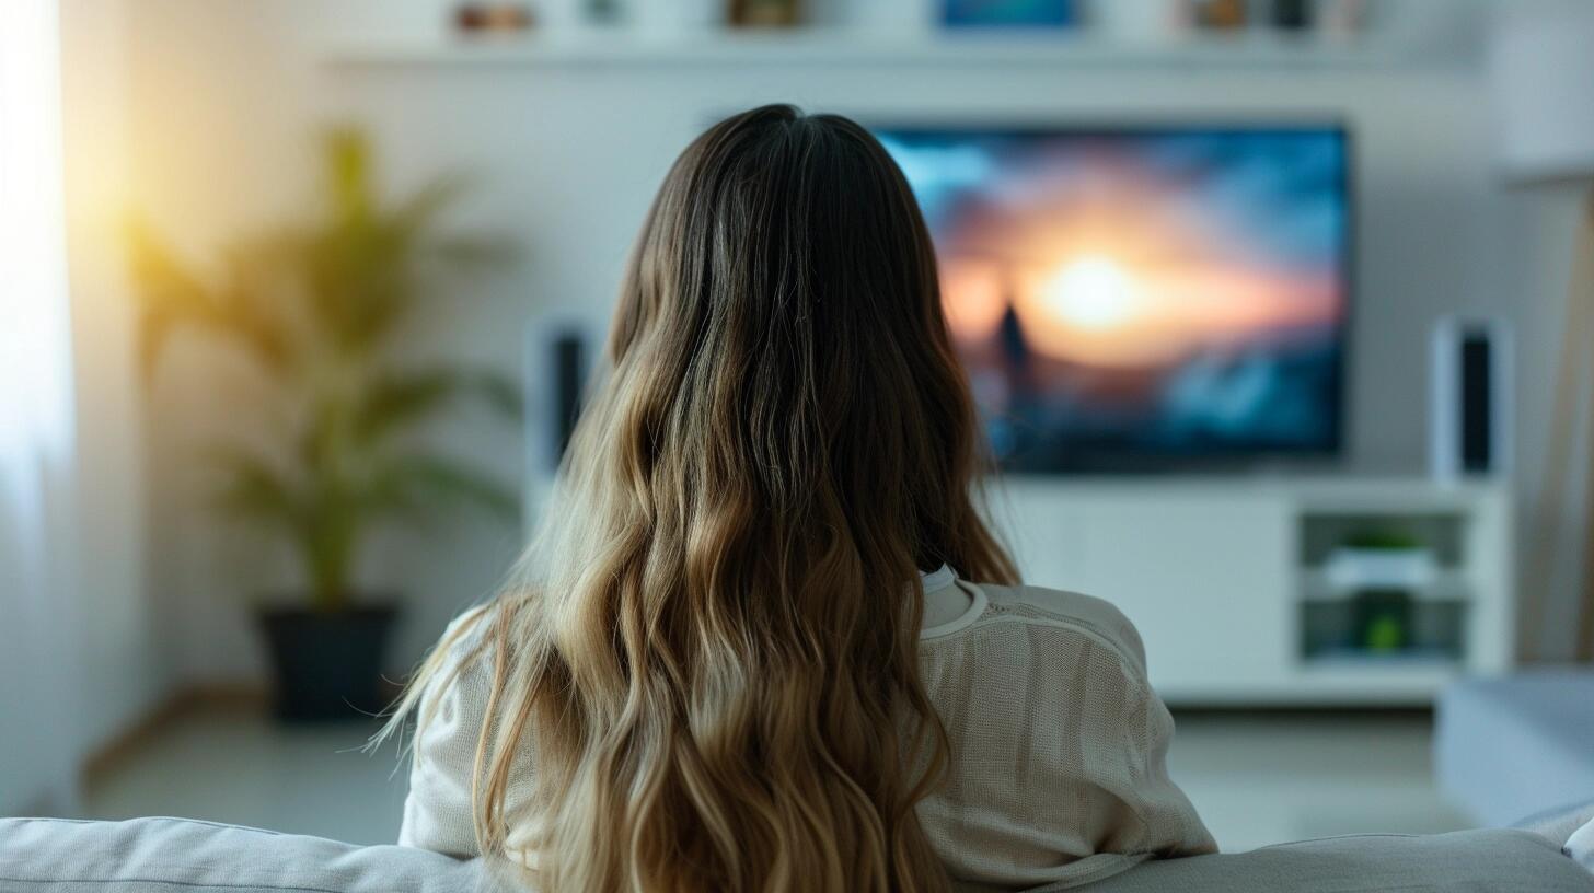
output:
[[1012, 470], [1329, 458], [1350, 311], [1339, 124], [878, 128]]

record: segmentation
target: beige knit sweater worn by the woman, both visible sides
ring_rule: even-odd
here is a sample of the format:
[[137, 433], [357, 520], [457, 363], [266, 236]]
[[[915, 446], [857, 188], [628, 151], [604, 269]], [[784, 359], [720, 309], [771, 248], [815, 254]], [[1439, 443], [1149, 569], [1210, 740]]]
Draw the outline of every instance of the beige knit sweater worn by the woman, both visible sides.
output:
[[[1146, 858], [1216, 850], [1168, 778], [1173, 719], [1117, 609], [972, 585], [945, 568], [925, 576], [925, 598], [920, 670], [952, 769], [918, 815], [960, 888], [1078, 887]], [[454, 649], [472, 644], [467, 633]], [[470, 772], [486, 697], [483, 662], [426, 692], [432, 719], [414, 743], [400, 844], [477, 855]]]

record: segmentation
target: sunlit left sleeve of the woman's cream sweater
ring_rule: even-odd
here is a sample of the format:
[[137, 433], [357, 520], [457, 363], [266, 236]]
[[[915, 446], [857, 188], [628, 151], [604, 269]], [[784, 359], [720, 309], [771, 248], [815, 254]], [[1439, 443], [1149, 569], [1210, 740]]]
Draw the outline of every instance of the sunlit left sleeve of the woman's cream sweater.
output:
[[[486, 714], [489, 663], [461, 660], [478, 641], [481, 609], [454, 620], [440, 647], [448, 657], [421, 695], [398, 845], [435, 850], [459, 858], [478, 855], [470, 786], [477, 742]], [[473, 635], [475, 633], [475, 635]]]

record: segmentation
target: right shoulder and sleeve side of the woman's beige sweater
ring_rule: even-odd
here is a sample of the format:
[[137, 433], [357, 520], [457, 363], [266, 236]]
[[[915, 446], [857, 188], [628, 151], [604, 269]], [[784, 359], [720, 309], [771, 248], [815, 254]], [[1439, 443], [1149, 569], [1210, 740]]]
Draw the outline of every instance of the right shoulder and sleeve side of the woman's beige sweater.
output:
[[953, 877], [1079, 887], [1140, 861], [1216, 850], [1168, 778], [1173, 719], [1138, 635], [1098, 600], [1006, 600], [921, 652], [952, 773], [920, 820]]

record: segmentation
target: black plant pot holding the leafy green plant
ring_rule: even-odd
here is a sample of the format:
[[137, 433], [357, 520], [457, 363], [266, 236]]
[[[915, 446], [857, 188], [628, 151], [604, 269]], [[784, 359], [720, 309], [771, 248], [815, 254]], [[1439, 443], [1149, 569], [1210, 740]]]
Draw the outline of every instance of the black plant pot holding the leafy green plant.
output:
[[387, 706], [383, 654], [398, 611], [391, 604], [324, 612], [258, 612], [276, 670], [279, 719], [352, 719]]

